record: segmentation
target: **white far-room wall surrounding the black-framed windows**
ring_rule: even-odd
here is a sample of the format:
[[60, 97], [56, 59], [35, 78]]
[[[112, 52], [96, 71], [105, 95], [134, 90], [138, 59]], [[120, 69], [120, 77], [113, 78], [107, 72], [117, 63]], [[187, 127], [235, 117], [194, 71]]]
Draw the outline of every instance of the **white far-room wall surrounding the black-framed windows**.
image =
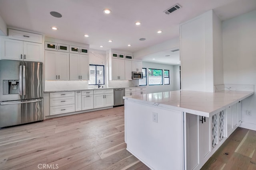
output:
[[143, 68], [155, 68], [155, 69], [162, 69], [162, 70], [170, 70], [170, 84], [166, 85], [148, 85], [148, 79], [147, 79], [147, 93], [156, 93], [156, 92], [167, 92], [167, 91], [173, 91], [173, 90], [179, 90], [174, 88], [174, 84], [176, 83], [174, 80], [174, 75], [176, 74], [174, 72], [174, 66], [167, 65], [167, 64], [158, 64], [158, 63], [149, 63], [149, 62], [142, 62]]

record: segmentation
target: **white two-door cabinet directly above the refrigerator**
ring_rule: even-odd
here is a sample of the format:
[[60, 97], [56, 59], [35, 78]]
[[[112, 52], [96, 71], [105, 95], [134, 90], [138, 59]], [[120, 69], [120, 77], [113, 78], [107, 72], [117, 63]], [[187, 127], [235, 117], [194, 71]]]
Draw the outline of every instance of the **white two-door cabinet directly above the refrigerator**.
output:
[[43, 62], [42, 44], [1, 38], [1, 59]]

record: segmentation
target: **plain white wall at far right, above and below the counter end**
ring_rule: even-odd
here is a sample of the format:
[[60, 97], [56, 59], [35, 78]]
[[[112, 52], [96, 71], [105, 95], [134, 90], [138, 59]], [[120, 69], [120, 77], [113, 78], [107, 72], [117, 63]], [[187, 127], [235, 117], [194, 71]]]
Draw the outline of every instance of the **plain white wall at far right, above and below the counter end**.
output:
[[[222, 22], [224, 84], [256, 85], [256, 10]], [[254, 91], [255, 92], [255, 91]], [[246, 115], [252, 111], [252, 116]], [[242, 127], [256, 129], [255, 94], [242, 101]]]

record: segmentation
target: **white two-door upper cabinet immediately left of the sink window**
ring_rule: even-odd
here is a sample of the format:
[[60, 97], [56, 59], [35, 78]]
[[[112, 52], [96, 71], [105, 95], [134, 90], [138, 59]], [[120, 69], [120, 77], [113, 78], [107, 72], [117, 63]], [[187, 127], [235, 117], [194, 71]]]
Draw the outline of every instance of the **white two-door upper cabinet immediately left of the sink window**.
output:
[[70, 80], [89, 80], [89, 56], [70, 53]]

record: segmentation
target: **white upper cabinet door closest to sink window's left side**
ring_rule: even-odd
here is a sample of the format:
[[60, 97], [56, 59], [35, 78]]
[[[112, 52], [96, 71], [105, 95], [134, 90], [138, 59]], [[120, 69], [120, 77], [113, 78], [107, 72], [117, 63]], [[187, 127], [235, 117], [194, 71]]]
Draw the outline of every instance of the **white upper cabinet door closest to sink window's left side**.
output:
[[80, 55], [80, 80], [89, 80], [89, 55]]

